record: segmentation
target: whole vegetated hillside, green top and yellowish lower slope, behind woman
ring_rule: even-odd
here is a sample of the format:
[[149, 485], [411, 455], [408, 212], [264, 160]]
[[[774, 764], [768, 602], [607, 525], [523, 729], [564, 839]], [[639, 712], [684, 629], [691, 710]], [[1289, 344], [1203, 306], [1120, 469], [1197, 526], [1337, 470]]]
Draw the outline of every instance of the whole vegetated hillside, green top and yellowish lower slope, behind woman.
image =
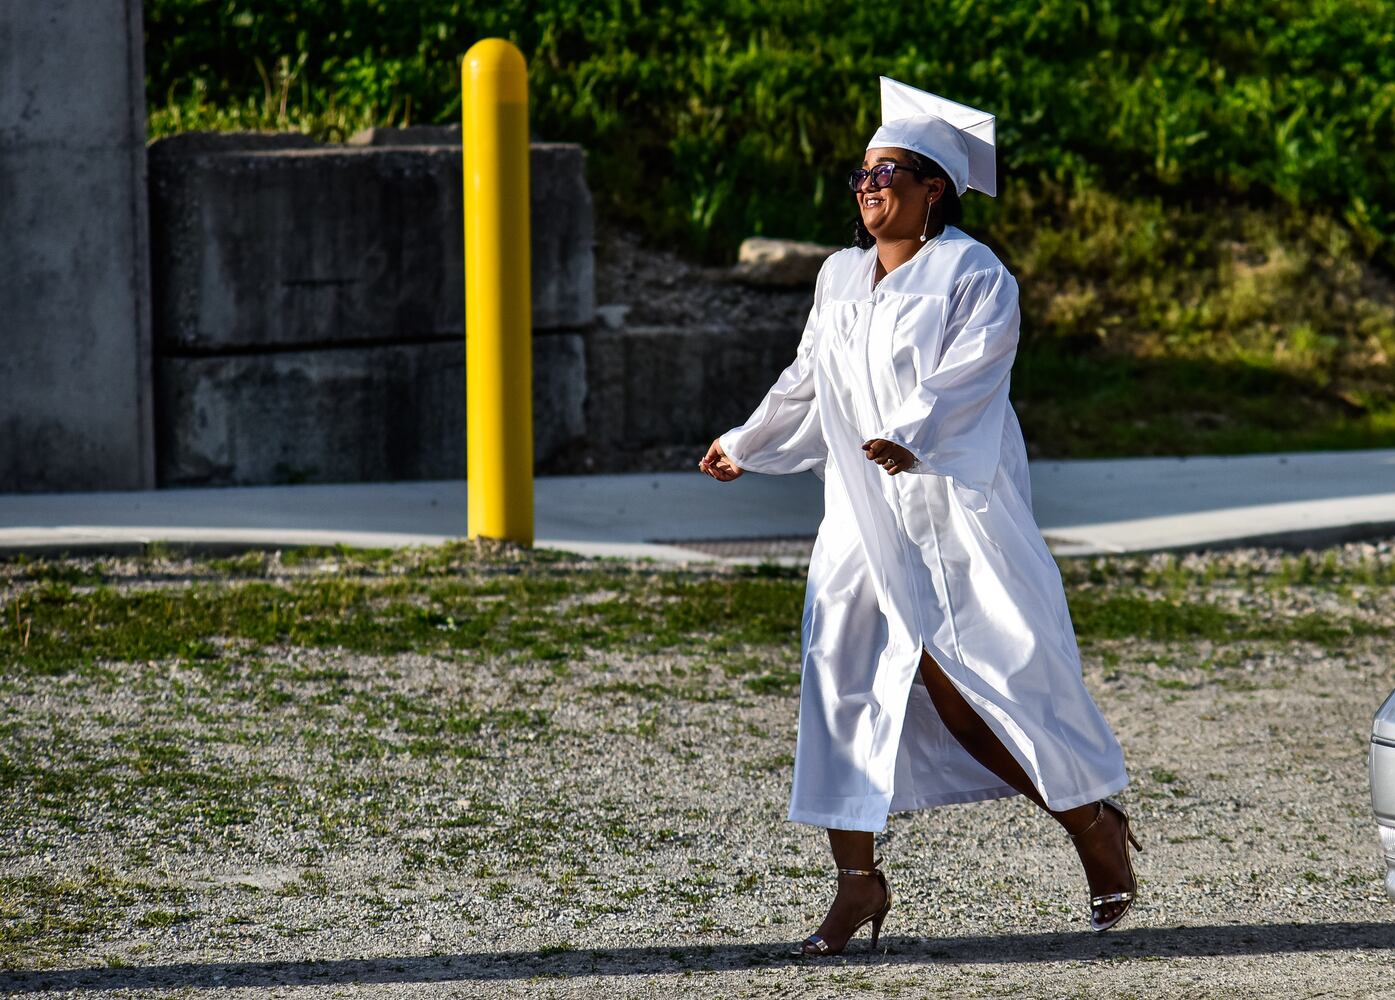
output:
[[[453, 123], [480, 38], [603, 218], [730, 259], [847, 238], [889, 74], [999, 114], [965, 226], [1023, 287], [1014, 397], [1050, 456], [1395, 445], [1389, 0], [148, 0], [152, 137]], [[810, 211], [812, 206], [812, 211]]]

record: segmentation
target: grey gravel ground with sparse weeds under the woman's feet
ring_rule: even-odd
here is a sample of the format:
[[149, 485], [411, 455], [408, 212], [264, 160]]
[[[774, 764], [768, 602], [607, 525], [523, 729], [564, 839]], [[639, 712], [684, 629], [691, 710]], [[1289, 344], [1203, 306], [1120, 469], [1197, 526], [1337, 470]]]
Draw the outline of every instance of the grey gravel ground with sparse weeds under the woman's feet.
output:
[[[559, 662], [229, 643], [216, 669], [10, 669], [0, 992], [1395, 996], [1366, 771], [1395, 683], [1395, 550], [1334, 550], [1281, 586], [1285, 559], [1067, 568], [1073, 593], [1190, 587], [1256, 621], [1367, 626], [1083, 643], [1145, 848], [1119, 929], [1088, 933], [1066, 837], [1017, 798], [893, 816], [883, 947], [820, 962], [783, 957], [833, 884], [822, 831], [784, 820], [795, 690], [700, 644]], [[206, 577], [186, 569], [113, 586]], [[445, 746], [421, 742], [420, 706]]]

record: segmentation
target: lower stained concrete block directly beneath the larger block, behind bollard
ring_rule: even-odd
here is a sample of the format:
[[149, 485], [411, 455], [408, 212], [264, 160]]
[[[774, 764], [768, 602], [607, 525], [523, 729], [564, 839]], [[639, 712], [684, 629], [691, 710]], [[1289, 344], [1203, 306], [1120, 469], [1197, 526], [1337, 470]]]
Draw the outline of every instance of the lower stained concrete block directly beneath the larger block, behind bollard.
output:
[[[540, 464], [583, 434], [576, 333], [533, 339]], [[465, 344], [160, 358], [162, 485], [465, 476]]]

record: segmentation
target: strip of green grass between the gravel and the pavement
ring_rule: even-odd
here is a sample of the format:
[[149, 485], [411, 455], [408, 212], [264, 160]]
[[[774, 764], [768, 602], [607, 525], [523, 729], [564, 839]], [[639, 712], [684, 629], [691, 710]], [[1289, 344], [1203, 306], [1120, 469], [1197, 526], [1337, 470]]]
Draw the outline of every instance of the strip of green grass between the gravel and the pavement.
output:
[[[177, 660], [218, 676], [261, 650], [318, 649], [459, 653], [550, 662], [565, 674], [569, 661], [590, 654], [702, 649], [748, 690], [784, 693], [798, 683], [791, 671], [771, 671], [767, 658], [749, 654], [798, 643], [804, 579], [795, 572], [578, 563], [518, 550], [515, 559], [490, 559], [470, 544], [412, 555], [321, 554], [321, 572], [294, 572], [306, 559], [211, 559], [195, 563], [195, 573], [152, 587], [113, 586], [123, 577], [106, 575], [100, 563], [10, 563], [10, 579], [20, 587], [0, 605], [0, 669], [10, 676], [100, 674], [112, 662]], [[1198, 586], [1226, 579], [1228, 570], [1223, 556], [1204, 565], [1201, 576], [1176, 556], [1066, 563], [1080, 639], [1325, 643], [1388, 632], [1362, 618], [1274, 616], [1214, 605], [1198, 598]], [[219, 579], [227, 570], [234, 572]], [[269, 579], [240, 579], [246, 576]], [[67, 582], [73, 579], [84, 583]], [[1242, 582], [1261, 590], [1389, 586], [1395, 570], [1387, 562], [1339, 565], [1331, 555], [1300, 555], [1264, 576], [1244, 570]], [[607, 681], [593, 690], [661, 697], [668, 688]], [[700, 688], [677, 685], [693, 697], [702, 697]], [[451, 722], [459, 732], [481, 724], [478, 717]]]

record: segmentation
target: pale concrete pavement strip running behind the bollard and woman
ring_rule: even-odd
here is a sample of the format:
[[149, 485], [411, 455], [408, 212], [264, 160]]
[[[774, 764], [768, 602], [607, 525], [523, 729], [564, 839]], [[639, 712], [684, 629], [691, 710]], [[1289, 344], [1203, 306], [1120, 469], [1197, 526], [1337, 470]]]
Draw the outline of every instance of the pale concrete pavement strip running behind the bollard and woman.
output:
[[[1395, 449], [1038, 462], [1036, 520], [1062, 555], [1318, 545], [1395, 534]], [[692, 473], [537, 480], [537, 544], [663, 561], [799, 561], [817, 530], [809, 474], [718, 484]], [[431, 545], [466, 531], [463, 481], [0, 497], [0, 554]]]

